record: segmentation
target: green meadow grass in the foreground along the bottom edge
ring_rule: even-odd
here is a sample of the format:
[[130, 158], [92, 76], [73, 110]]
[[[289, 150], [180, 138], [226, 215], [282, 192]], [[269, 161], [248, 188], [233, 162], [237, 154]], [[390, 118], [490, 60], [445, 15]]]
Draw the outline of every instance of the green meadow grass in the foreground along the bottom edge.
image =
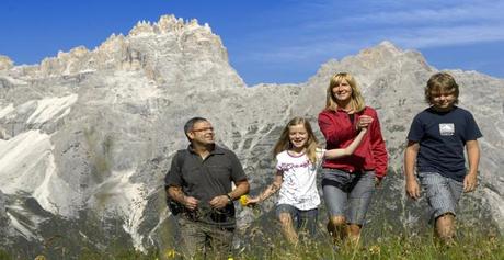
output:
[[[364, 234], [366, 235], [366, 234]], [[107, 252], [82, 250], [76, 259], [122, 259], [122, 260], [162, 260], [179, 259], [172, 249], [151, 249], [147, 255], [135, 251], [133, 248], [113, 246]], [[111, 249], [111, 248], [110, 248]], [[41, 253], [43, 256], [44, 253]], [[14, 259], [7, 251], [0, 249], [0, 259]], [[49, 258], [47, 258], [49, 259]], [[206, 259], [217, 259], [208, 257]], [[474, 231], [467, 228], [459, 231], [456, 244], [451, 246], [442, 245], [435, 239], [431, 231], [424, 234], [396, 234], [390, 236], [363, 237], [359, 246], [342, 245], [334, 249], [331, 239], [321, 233], [317, 239], [301, 240], [297, 246], [289, 245], [279, 233], [273, 231], [270, 235], [259, 230], [255, 237], [243, 241], [242, 247], [234, 252], [234, 260], [259, 260], [259, 259], [369, 259], [369, 260], [437, 260], [437, 259], [504, 259], [504, 239], [492, 233]]]

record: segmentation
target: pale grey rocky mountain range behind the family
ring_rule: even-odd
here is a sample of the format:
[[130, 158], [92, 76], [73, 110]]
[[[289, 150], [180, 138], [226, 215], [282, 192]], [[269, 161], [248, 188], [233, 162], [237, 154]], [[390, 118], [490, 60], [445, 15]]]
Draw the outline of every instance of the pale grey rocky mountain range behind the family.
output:
[[[187, 145], [185, 121], [198, 115], [213, 122], [254, 192], [272, 180], [271, 150], [290, 117], [307, 116], [318, 129], [329, 79], [337, 71], [352, 72], [367, 104], [378, 110], [390, 152], [370, 223], [394, 216], [391, 223], [408, 227], [425, 218], [425, 203], [404, 197], [401, 174], [408, 128], [426, 108], [423, 88], [436, 71], [416, 52], [382, 43], [328, 61], [301, 84], [245, 88], [208, 25], [167, 15], [138, 23], [127, 36], [113, 35], [94, 50], [77, 47], [37, 66], [2, 60], [0, 235], [7, 247], [32, 248], [25, 256], [48, 240], [76, 251], [82, 245], [104, 250], [117, 240], [140, 250], [167, 247], [172, 230], [163, 177], [174, 152]], [[460, 217], [488, 218], [502, 230], [504, 81], [451, 72], [461, 86], [460, 105], [473, 112], [484, 135], [481, 184], [462, 200]], [[239, 211], [240, 227], [250, 214]], [[68, 230], [76, 235], [55, 238]]]

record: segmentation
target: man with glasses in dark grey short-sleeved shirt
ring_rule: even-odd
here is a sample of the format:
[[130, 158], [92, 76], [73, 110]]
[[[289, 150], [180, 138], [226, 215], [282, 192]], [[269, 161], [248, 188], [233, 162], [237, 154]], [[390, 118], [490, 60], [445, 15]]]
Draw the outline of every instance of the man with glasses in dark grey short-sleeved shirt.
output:
[[249, 182], [237, 156], [215, 144], [208, 120], [191, 118], [184, 132], [191, 144], [176, 152], [164, 178], [169, 197], [181, 205], [175, 214], [183, 253], [225, 257], [236, 228], [233, 201], [249, 192]]

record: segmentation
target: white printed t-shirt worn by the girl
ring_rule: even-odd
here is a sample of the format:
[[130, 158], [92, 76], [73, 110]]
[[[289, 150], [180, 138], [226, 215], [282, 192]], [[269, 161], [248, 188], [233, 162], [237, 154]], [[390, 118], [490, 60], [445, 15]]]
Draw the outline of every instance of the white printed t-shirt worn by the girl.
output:
[[320, 204], [317, 190], [317, 169], [322, 162], [325, 149], [317, 149], [317, 163], [311, 163], [306, 154], [293, 156], [287, 150], [276, 156], [276, 170], [283, 172], [277, 204], [293, 205], [298, 210], [317, 208]]

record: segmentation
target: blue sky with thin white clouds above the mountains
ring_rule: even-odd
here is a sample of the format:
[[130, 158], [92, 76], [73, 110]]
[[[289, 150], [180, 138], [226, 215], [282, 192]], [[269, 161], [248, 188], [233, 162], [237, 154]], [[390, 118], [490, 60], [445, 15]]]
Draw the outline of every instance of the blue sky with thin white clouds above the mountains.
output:
[[0, 54], [36, 64], [162, 14], [209, 23], [249, 86], [303, 82], [331, 58], [390, 41], [438, 69], [504, 78], [504, 1], [2, 0]]

